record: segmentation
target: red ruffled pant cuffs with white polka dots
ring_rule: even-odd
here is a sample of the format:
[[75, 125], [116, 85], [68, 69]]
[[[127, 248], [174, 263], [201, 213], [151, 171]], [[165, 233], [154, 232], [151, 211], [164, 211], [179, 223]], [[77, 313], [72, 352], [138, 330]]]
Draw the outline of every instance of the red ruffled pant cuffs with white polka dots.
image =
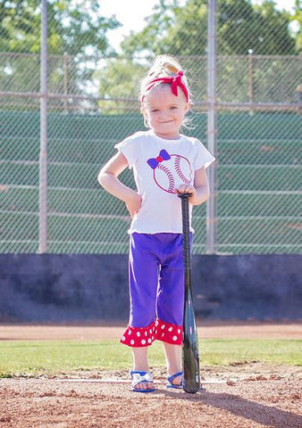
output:
[[122, 334], [120, 342], [131, 347], [150, 346], [155, 340], [181, 345], [182, 326], [165, 323], [161, 319], [156, 319], [155, 323], [147, 327], [127, 327]]

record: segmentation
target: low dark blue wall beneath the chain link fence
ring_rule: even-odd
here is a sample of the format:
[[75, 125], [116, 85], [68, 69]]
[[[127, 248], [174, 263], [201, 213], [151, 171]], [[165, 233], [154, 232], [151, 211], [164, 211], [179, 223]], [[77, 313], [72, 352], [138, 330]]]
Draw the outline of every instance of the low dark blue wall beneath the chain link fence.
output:
[[[302, 318], [299, 255], [194, 256], [197, 318]], [[0, 322], [127, 322], [127, 255], [1, 254]]]

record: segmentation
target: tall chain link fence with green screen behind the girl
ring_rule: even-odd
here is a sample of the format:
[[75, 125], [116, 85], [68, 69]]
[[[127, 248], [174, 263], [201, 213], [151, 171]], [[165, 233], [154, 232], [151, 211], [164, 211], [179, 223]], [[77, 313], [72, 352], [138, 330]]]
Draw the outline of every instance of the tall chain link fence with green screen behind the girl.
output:
[[[187, 3], [206, 7], [202, 1]], [[278, 34], [264, 49], [277, 24], [273, 17], [271, 27], [259, 16], [245, 17], [248, 4], [216, 6], [214, 252], [300, 253], [301, 56], [293, 39]], [[50, 12], [48, 31], [54, 36]], [[248, 29], [242, 29], [247, 23], [249, 40]], [[21, 24], [19, 29], [29, 34]], [[194, 45], [194, 32], [183, 37], [184, 45]], [[71, 48], [58, 54], [53, 43], [48, 37], [46, 251], [127, 252], [128, 212], [96, 177], [114, 144], [145, 129], [138, 86], [154, 55], [89, 55]], [[0, 251], [38, 252], [40, 52], [32, 52], [30, 44], [28, 49], [1, 46]], [[183, 55], [180, 47], [171, 53], [188, 70], [194, 95], [184, 133], [207, 144], [206, 45], [202, 54], [196, 51]], [[134, 186], [129, 170], [121, 179]], [[196, 254], [207, 251], [207, 223], [206, 204], [194, 207]]]

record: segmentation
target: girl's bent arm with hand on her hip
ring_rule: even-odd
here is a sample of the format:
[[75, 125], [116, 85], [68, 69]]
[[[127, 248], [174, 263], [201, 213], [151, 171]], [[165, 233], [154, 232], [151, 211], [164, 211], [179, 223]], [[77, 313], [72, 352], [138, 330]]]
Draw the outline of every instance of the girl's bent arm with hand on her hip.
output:
[[141, 197], [137, 192], [123, 185], [118, 179], [124, 169], [128, 167], [128, 161], [122, 152], [117, 152], [100, 170], [97, 180], [105, 190], [126, 203], [131, 218], [136, 214], [141, 205]]

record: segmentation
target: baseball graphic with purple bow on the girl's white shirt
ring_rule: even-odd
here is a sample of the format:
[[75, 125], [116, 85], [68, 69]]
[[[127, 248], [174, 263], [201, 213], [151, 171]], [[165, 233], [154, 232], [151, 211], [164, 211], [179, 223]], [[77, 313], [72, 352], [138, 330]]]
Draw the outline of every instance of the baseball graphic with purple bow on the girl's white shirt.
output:
[[148, 159], [147, 164], [153, 169], [156, 185], [164, 192], [175, 193], [179, 185], [192, 182], [193, 173], [189, 160], [180, 154], [169, 154], [166, 150], [161, 150], [156, 158]]

